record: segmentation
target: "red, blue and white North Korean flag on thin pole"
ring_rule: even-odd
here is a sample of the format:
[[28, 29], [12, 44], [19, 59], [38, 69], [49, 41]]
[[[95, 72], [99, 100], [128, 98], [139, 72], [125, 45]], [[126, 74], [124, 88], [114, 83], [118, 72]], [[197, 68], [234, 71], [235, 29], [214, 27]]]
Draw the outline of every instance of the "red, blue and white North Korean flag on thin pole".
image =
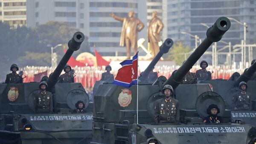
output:
[[122, 68], [118, 70], [115, 80], [112, 84], [130, 88], [131, 85], [137, 85], [138, 75], [138, 53], [131, 60], [125, 60], [120, 63]]

